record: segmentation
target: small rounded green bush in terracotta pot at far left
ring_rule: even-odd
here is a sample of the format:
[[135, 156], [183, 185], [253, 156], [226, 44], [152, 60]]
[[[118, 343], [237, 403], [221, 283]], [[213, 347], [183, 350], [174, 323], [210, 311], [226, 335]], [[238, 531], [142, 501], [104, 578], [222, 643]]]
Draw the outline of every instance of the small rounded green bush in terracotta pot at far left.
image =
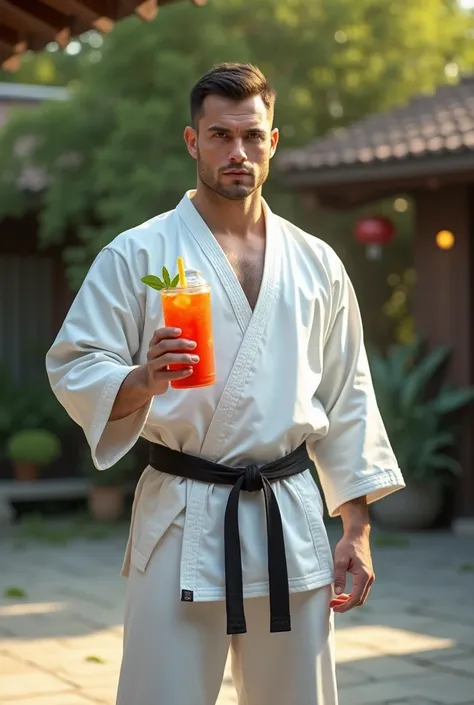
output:
[[7, 440], [6, 455], [13, 463], [15, 479], [37, 480], [39, 468], [61, 455], [61, 441], [54, 433], [43, 429], [18, 431]]

